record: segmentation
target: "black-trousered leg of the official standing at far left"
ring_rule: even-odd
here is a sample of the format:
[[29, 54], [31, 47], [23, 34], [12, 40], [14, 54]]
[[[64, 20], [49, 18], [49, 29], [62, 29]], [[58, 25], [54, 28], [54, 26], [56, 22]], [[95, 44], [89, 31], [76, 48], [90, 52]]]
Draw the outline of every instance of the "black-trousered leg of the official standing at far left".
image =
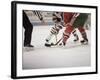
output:
[[23, 11], [23, 27], [25, 29], [25, 32], [24, 32], [24, 47], [33, 48], [34, 46], [31, 45], [33, 25], [29, 21], [28, 16], [24, 11]]

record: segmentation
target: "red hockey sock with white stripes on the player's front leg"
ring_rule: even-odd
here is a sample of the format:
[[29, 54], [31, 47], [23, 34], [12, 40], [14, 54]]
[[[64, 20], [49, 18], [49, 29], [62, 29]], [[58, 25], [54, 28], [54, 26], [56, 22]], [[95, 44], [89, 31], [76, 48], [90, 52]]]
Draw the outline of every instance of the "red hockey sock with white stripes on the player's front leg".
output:
[[72, 31], [73, 31], [73, 27], [71, 25], [67, 25], [67, 27], [63, 33], [63, 42], [64, 43], [66, 43], [66, 41], [69, 38]]

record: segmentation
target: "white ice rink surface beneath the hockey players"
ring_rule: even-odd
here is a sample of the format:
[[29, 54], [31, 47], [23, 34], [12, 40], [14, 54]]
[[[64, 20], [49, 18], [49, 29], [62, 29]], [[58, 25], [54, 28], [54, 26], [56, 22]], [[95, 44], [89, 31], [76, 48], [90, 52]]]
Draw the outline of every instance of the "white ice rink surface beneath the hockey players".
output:
[[[45, 38], [48, 36], [52, 26], [34, 26], [32, 33], [32, 44], [34, 50], [23, 49], [22, 66], [23, 69], [46, 69], [65, 67], [91, 66], [91, 31], [86, 30], [89, 39], [88, 45], [81, 45], [73, 42], [73, 35], [67, 41], [65, 47], [45, 47]], [[62, 36], [60, 31], [58, 39]], [[81, 35], [77, 30], [80, 38]]]

